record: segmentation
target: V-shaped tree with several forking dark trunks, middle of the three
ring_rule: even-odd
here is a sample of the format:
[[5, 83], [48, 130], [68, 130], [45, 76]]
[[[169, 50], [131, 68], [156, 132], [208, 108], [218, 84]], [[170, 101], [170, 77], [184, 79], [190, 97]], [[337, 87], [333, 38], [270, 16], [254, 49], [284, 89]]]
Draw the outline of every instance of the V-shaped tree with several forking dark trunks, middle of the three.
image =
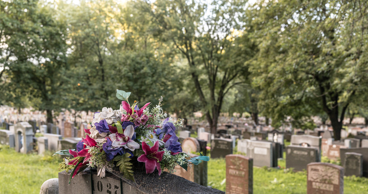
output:
[[[245, 1], [158, 0], [146, 3], [155, 24], [153, 32], [174, 44], [187, 60], [187, 70], [201, 101], [211, 133], [216, 133], [223, 99], [231, 88], [244, 83], [248, 74], [244, 60], [234, 60], [239, 49], [234, 40], [241, 36]], [[233, 58], [232, 58], [233, 57]]]

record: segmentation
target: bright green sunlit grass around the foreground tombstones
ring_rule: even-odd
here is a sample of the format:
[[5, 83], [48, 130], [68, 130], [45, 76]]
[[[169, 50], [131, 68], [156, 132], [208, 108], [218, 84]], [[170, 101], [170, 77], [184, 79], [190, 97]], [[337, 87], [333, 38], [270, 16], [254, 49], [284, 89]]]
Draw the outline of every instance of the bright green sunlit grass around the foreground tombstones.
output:
[[[238, 153], [237, 153], [238, 154]], [[42, 183], [58, 176], [57, 156], [21, 154], [14, 149], [0, 145], [0, 194], [39, 193]], [[285, 155], [285, 153], [284, 153]], [[289, 194], [306, 193], [307, 173], [291, 172], [285, 168], [285, 160], [279, 160], [280, 169], [254, 167], [254, 193]], [[225, 159], [210, 159], [208, 162], [208, 185], [225, 191]], [[368, 179], [364, 177], [344, 177], [344, 193], [368, 193]]]

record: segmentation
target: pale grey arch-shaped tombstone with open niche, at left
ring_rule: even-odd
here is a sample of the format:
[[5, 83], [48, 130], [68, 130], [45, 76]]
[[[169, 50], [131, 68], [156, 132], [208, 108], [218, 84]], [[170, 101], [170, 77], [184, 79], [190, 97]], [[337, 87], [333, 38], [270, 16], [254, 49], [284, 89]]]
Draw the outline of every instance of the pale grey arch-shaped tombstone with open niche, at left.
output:
[[27, 154], [33, 150], [33, 129], [28, 122], [19, 122], [15, 126], [15, 151]]

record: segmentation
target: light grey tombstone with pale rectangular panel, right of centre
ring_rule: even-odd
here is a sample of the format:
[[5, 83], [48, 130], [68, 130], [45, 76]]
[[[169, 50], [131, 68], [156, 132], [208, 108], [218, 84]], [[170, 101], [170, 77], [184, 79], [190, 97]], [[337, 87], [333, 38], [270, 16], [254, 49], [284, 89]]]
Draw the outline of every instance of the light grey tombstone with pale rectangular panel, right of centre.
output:
[[250, 140], [247, 156], [253, 158], [254, 166], [276, 167], [273, 161], [272, 142]]

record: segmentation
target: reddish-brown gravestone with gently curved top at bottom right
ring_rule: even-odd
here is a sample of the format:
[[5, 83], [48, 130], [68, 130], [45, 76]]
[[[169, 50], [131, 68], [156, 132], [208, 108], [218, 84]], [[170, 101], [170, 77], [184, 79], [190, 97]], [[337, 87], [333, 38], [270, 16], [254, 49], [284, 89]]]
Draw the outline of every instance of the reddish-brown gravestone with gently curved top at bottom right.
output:
[[313, 162], [307, 166], [307, 194], [343, 194], [344, 168], [330, 163]]

